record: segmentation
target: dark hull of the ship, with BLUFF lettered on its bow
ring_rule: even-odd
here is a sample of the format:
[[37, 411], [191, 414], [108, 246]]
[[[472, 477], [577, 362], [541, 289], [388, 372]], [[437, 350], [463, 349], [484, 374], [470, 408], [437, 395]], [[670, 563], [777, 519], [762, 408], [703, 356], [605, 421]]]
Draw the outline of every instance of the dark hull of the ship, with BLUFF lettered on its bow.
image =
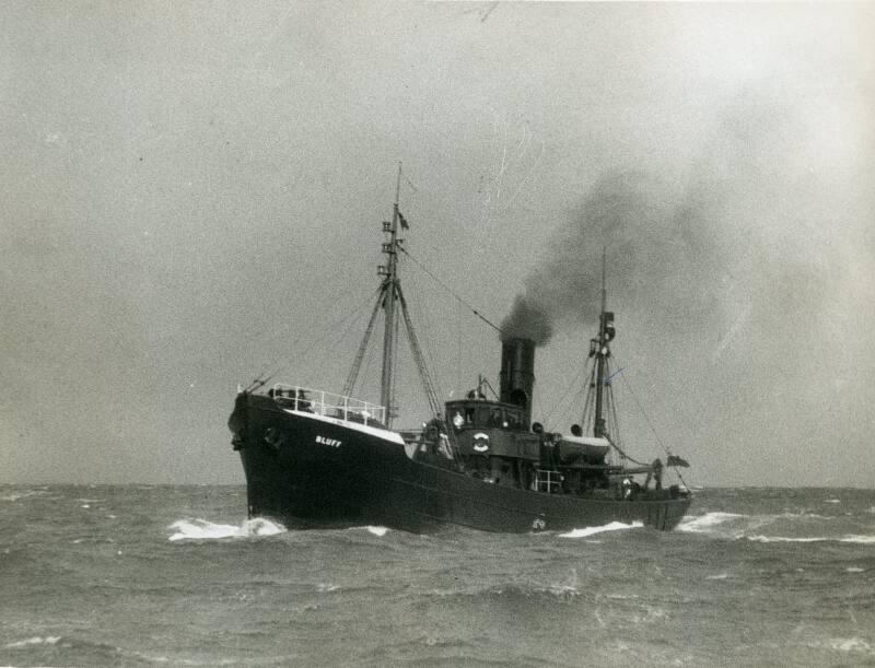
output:
[[240, 395], [229, 422], [246, 473], [250, 516], [290, 527], [381, 525], [416, 532], [570, 530], [610, 521], [672, 529], [689, 497], [620, 501], [491, 484], [413, 461], [393, 432], [283, 410]]

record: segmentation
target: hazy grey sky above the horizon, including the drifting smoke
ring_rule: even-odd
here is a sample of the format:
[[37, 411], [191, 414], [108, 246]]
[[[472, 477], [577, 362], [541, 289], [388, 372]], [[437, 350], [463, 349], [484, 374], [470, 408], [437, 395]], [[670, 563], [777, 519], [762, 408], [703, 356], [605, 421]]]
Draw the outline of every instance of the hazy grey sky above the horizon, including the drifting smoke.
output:
[[0, 482], [242, 483], [237, 385], [343, 386], [401, 163], [442, 398], [498, 386], [456, 296], [536, 303], [567, 432], [604, 248], [626, 449], [872, 484], [871, 4], [9, 1], [0, 61]]

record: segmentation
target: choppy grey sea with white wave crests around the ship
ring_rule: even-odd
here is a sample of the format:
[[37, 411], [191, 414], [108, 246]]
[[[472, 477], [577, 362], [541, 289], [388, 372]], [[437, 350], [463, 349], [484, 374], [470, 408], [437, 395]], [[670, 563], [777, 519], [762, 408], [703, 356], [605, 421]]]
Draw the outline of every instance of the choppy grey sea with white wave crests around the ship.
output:
[[420, 536], [287, 530], [242, 487], [0, 485], [0, 665], [875, 666], [875, 490]]

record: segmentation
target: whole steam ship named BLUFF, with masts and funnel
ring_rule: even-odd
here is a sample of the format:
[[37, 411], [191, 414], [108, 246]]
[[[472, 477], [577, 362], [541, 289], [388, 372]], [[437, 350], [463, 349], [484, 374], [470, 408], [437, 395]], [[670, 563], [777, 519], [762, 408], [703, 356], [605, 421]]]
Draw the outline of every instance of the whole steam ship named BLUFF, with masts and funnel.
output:
[[[398, 175], [400, 184], [400, 169]], [[666, 469], [687, 466], [631, 459], [611, 436], [610, 341], [614, 314], [604, 283], [598, 331], [591, 340], [588, 391], [569, 434], [533, 422], [535, 342], [502, 336], [499, 392], [478, 378], [465, 398], [438, 400], [401, 292], [406, 253], [398, 209], [383, 224], [385, 265], [364, 339], [341, 392], [257, 379], [238, 392], [229, 419], [246, 476], [248, 513], [290, 528], [382, 525], [415, 532], [457, 525], [487, 531], [571, 530], [611, 521], [672, 529], [689, 508]], [[364, 350], [384, 314], [381, 401], [351, 397]], [[399, 313], [400, 312], [400, 313]], [[393, 429], [393, 360], [399, 315], [432, 415], [417, 430]], [[678, 480], [682, 479], [678, 472]]]

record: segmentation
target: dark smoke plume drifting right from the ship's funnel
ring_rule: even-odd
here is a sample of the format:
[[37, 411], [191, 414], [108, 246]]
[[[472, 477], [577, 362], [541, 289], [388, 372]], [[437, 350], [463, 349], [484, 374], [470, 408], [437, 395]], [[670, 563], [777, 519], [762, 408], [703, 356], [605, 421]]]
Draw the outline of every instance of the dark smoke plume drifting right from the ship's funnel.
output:
[[[604, 175], [548, 241], [502, 338], [544, 345], [560, 329], [595, 327], [604, 248], [618, 330], [645, 321], [769, 391], [824, 373], [810, 351], [833, 340], [859, 348], [843, 326], [855, 308], [848, 286], [862, 288], [852, 258], [866, 245], [872, 202], [859, 189], [845, 197], [838, 159], [830, 164], [812, 139], [820, 131], [768, 93], [747, 92], [722, 112], [684, 186], [640, 171]], [[851, 354], [831, 352], [833, 367], [847, 371]]]

